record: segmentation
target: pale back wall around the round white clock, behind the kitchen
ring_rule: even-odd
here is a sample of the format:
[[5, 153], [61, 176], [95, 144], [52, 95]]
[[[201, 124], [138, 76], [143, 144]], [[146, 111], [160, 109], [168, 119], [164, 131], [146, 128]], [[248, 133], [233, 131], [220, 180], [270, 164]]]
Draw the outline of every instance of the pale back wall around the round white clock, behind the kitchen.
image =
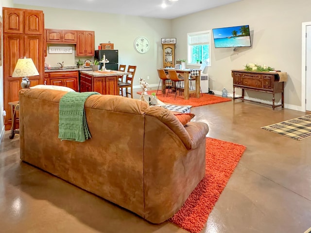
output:
[[[119, 50], [119, 64], [137, 66], [134, 86], [139, 86], [139, 78], [147, 79], [147, 76], [150, 76], [150, 80], [146, 81], [157, 86], [156, 69], [163, 67], [161, 38], [172, 36], [171, 20], [19, 4], [15, 7], [43, 10], [45, 28], [95, 31], [96, 50], [100, 43], [111, 41], [114, 49]], [[145, 54], [134, 50], [134, 40], [140, 35], [147, 37], [151, 44]], [[53, 58], [53, 61], [64, 60]]]

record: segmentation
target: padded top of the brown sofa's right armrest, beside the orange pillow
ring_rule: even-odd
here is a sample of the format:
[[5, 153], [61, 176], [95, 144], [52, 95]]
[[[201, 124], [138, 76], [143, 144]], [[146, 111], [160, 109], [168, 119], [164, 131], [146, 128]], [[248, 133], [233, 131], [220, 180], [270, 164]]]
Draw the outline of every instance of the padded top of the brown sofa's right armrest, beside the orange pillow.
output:
[[207, 124], [204, 122], [188, 122], [185, 129], [190, 135], [191, 149], [198, 147], [209, 130]]

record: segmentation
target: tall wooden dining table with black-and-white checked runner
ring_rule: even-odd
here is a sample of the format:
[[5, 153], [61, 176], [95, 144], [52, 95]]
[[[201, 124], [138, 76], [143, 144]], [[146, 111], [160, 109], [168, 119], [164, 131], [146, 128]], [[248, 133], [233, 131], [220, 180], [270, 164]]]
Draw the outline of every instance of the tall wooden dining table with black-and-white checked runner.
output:
[[[168, 70], [175, 70], [177, 74], [180, 74], [184, 80], [185, 80], [185, 86], [184, 86], [184, 99], [189, 100], [190, 94], [194, 93], [196, 98], [200, 98], [200, 76], [201, 76], [201, 70], [200, 69], [173, 69], [173, 68], [162, 68], [166, 72]], [[195, 81], [195, 89], [190, 90], [189, 88], [189, 82], [186, 82], [186, 80], [189, 80], [189, 77], [194, 78]], [[190, 81], [190, 80], [189, 80]], [[165, 81], [162, 80], [162, 92], [165, 93], [166, 86]]]

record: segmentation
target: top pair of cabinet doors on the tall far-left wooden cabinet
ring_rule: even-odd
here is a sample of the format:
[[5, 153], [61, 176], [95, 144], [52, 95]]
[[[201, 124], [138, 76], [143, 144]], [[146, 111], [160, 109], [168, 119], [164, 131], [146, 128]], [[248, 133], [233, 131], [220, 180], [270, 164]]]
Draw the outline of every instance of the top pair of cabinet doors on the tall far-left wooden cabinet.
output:
[[43, 34], [44, 15], [42, 11], [19, 8], [3, 8], [4, 33]]

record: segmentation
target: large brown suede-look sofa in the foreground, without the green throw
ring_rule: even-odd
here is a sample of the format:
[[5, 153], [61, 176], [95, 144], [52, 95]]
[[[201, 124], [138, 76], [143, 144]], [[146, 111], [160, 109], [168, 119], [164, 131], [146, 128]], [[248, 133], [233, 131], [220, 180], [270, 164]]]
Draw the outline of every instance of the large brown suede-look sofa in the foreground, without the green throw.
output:
[[65, 91], [19, 92], [20, 158], [152, 223], [176, 213], [205, 175], [207, 124], [120, 96], [85, 102], [92, 138], [58, 139]]

